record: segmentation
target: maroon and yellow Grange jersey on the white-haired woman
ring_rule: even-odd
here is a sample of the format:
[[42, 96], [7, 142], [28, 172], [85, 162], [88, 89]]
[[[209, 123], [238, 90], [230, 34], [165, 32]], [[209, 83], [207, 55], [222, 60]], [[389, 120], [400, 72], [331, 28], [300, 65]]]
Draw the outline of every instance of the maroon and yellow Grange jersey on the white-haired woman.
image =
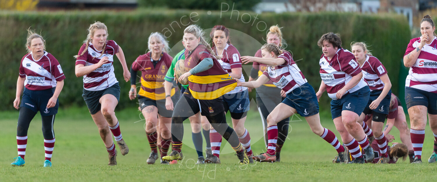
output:
[[[156, 66], [153, 66], [150, 54], [149, 52], [138, 56], [132, 63], [133, 70], [141, 71], [141, 89], [138, 94], [154, 100], [165, 99], [163, 83], [173, 58], [167, 53], [162, 53]], [[171, 89], [170, 95], [173, 96], [174, 93], [175, 88]]]

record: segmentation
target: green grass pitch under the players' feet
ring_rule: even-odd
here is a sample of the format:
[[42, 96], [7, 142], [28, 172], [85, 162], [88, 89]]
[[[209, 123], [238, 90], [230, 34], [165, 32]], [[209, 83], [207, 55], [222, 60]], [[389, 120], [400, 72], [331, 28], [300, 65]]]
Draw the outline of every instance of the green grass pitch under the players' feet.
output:
[[[121, 133], [129, 146], [126, 156], [117, 156], [118, 165], [108, 166], [108, 153], [86, 108], [60, 109], [55, 119], [55, 149], [51, 168], [42, 167], [44, 146], [39, 114], [31, 122], [26, 149], [26, 165], [11, 167], [17, 156], [17, 111], [0, 112], [1, 136], [0, 181], [435, 181], [437, 164], [428, 164], [433, 148], [432, 132], [427, 126], [423, 146], [423, 164], [400, 161], [390, 165], [333, 164], [335, 149], [314, 135], [300, 116], [291, 118], [288, 140], [281, 152], [280, 163], [237, 164], [231, 147], [222, 143], [220, 165], [194, 165], [197, 155], [191, 141], [191, 128], [186, 121], [184, 160], [176, 165], [147, 165], [150, 148], [143, 129], [144, 121], [136, 109], [116, 113]], [[322, 113], [322, 125], [335, 131], [329, 113]], [[255, 153], [265, 151], [258, 113], [250, 111], [246, 128]], [[399, 131], [393, 129], [395, 142]], [[204, 141], [205, 142], [205, 141]], [[205, 144], [204, 144], [205, 147]]]

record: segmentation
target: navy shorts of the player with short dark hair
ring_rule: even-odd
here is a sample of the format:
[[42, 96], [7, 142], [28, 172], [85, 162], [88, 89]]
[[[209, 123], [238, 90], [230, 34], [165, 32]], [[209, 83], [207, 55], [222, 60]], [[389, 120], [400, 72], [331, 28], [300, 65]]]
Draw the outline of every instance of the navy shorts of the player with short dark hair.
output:
[[331, 115], [332, 119], [341, 116], [343, 110], [357, 113], [358, 116], [363, 113], [370, 96], [369, 86], [344, 95], [341, 99], [331, 100]]

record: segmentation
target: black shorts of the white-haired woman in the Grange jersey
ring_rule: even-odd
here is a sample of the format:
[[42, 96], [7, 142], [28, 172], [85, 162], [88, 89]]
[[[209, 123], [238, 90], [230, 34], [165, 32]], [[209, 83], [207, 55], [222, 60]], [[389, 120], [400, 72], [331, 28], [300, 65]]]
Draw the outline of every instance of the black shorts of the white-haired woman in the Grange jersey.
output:
[[[178, 99], [179, 99], [179, 92], [176, 91], [174, 95], [171, 97], [171, 100], [173, 101], [173, 107], [176, 106]], [[166, 109], [165, 100], [166, 99], [153, 100], [148, 97], [138, 96], [138, 102], [141, 110], [146, 108], [147, 106], [156, 106], [156, 108], [158, 108], [158, 114], [160, 114], [163, 117], [170, 118], [173, 115], [173, 111]]]

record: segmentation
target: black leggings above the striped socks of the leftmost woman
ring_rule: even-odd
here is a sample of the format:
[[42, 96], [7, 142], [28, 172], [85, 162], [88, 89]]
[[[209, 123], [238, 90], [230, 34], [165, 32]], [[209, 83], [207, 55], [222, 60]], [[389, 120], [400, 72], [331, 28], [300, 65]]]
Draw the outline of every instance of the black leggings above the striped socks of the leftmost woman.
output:
[[[27, 136], [30, 122], [35, 117], [36, 113], [27, 107], [20, 108], [20, 114], [18, 115], [17, 124], [17, 136]], [[53, 131], [53, 122], [55, 121], [55, 115], [41, 116], [42, 119], [42, 136], [44, 139], [51, 140], [55, 138], [55, 132]]]

